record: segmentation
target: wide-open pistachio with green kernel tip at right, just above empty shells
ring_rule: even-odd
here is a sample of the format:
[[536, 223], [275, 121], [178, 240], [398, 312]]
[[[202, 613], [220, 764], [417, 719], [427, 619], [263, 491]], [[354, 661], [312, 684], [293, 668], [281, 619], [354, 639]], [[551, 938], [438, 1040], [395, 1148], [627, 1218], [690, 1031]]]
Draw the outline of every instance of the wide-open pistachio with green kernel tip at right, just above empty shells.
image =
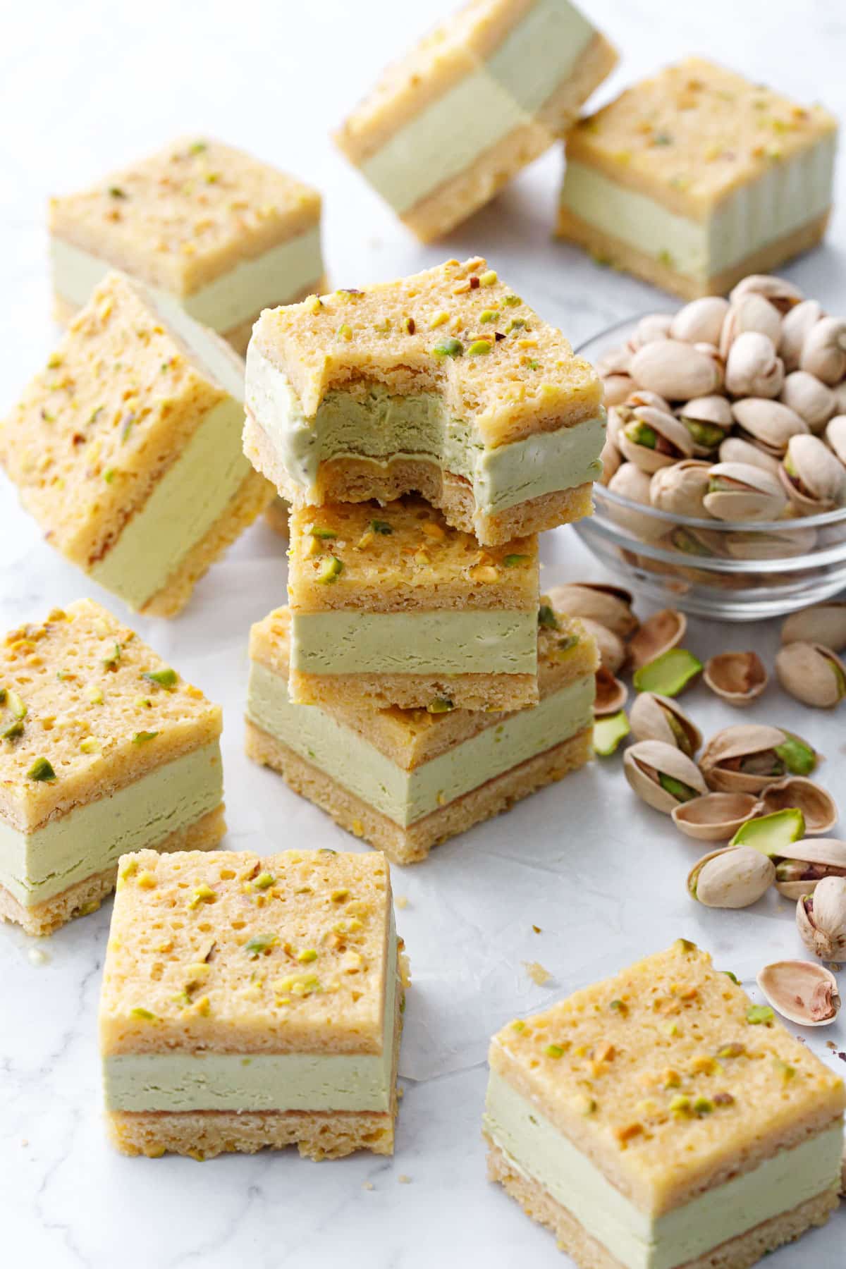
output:
[[724, 727], [699, 759], [708, 787], [718, 793], [761, 793], [785, 775], [810, 775], [817, 763], [807, 740], [764, 723]]

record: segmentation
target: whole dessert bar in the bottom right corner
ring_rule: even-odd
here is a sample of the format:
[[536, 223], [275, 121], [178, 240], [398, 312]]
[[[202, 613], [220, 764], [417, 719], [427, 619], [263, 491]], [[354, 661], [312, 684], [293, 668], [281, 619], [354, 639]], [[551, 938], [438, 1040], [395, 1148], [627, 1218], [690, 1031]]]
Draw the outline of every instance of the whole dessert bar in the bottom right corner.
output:
[[585, 1269], [745, 1269], [837, 1207], [842, 1081], [686, 939], [490, 1065], [491, 1179]]

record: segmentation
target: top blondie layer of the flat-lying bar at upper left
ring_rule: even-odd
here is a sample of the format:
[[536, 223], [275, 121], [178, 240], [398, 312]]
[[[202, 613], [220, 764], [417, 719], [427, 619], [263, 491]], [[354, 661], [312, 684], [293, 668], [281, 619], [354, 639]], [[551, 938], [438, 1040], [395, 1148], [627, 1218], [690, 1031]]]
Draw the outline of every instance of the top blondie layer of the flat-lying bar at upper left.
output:
[[269, 164], [189, 137], [93, 189], [51, 199], [49, 231], [184, 297], [306, 232], [320, 208], [317, 190]]

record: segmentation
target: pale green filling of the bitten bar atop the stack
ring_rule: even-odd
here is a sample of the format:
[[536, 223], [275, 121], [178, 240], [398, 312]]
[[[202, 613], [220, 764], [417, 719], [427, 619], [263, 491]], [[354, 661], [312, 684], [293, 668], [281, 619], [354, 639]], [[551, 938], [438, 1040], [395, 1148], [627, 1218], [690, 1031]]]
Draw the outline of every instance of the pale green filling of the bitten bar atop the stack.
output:
[[487, 515], [601, 475], [604, 410], [572, 428], [496, 448], [487, 448], [465, 420], [450, 418], [436, 392], [403, 397], [377, 383], [364, 396], [332, 391], [308, 419], [285, 374], [255, 344], [247, 349], [246, 396], [289, 480], [312, 500], [320, 464], [332, 458], [383, 468], [394, 459], [436, 463], [469, 481]]

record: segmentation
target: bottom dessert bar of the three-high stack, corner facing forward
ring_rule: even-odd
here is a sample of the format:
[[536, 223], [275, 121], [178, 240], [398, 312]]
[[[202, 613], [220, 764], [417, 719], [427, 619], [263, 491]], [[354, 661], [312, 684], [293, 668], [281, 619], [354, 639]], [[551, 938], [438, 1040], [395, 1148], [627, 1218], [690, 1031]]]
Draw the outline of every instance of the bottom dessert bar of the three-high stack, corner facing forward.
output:
[[297, 706], [289, 646], [288, 609], [252, 627], [247, 755], [394, 863], [424, 859], [591, 756], [596, 645], [548, 604], [539, 609], [540, 702], [514, 713]]

